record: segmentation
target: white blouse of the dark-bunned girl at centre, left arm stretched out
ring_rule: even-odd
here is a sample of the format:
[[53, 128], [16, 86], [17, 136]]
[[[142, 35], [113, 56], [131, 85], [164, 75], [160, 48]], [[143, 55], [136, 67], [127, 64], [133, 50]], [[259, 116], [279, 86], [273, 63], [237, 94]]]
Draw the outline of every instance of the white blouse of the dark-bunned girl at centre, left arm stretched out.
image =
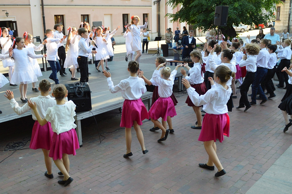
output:
[[122, 92], [122, 97], [127, 100], [138, 100], [147, 91], [144, 79], [140, 77], [130, 76], [128, 79], [121, 80], [116, 86], [112, 78], [108, 77], [107, 84], [111, 93]]

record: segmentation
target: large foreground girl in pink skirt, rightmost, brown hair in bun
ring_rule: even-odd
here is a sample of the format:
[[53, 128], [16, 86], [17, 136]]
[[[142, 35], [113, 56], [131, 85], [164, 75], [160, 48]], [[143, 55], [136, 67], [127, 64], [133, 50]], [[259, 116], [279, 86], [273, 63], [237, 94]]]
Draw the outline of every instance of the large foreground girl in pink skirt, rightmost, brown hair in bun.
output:
[[194, 88], [191, 87], [187, 79], [182, 82], [187, 88], [187, 93], [196, 106], [204, 105], [206, 114], [203, 119], [202, 130], [199, 135], [199, 141], [204, 142], [204, 147], [209, 156], [207, 163], [200, 163], [199, 167], [214, 170], [216, 165], [218, 172], [215, 176], [222, 176], [226, 174], [216, 154], [216, 139], [220, 142], [224, 140], [223, 135], [229, 137], [229, 116], [227, 114], [227, 101], [230, 98], [231, 88], [226, 83], [231, 77], [235, 77], [232, 72], [225, 65], [220, 65], [214, 72], [214, 81], [212, 77], [208, 77], [211, 83], [209, 89], [204, 95], [199, 96]]

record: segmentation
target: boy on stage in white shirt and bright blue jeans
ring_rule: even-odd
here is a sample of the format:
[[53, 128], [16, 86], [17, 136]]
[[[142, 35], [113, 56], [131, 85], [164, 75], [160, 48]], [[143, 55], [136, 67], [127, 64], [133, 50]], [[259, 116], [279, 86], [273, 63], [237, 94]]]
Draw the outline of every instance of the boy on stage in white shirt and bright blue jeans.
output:
[[[55, 81], [55, 84], [59, 84], [59, 79], [57, 77], [57, 73], [60, 71], [60, 63], [58, 60], [58, 48], [62, 46], [62, 41], [64, 38], [53, 38], [54, 37], [54, 31], [51, 29], [46, 30], [46, 36], [47, 43], [47, 57], [46, 60], [49, 62], [52, 73], [49, 76], [50, 79], [53, 79]], [[59, 43], [58, 43], [59, 42]]]

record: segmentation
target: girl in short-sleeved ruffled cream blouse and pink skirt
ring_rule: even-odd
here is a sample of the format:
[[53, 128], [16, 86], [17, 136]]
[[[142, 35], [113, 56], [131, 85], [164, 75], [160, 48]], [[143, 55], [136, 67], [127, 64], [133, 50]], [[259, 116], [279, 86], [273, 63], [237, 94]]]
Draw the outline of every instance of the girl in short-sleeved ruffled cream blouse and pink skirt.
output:
[[72, 183], [73, 179], [69, 176], [70, 162], [68, 154], [76, 155], [76, 149], [79, 148], [79, 142], [74, 124], [76, 105], [72, 101], [66, 101], [68, 92], [63, 84], [57, 84], [53, 89], [53, 97], [56, 99], [56, 105], [49, 107], [44, 119], [41, 118], [35, 102], [29, 101], [29, 107], [34, 111], [36, 119], [41, 126], [51, 122], [53, 129], [52, 146], [49, 157], [52, 157], [56, 166], [61, 171], [58, 174], [64, 175], [63, 180], [58, 181], [64, 186]]

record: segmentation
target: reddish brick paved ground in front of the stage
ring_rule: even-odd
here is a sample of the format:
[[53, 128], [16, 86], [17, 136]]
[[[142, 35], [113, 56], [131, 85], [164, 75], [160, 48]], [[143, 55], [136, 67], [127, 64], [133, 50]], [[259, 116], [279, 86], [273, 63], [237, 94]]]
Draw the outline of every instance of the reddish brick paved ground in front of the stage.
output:
[[[149, 59], [154, 58], [148, 56], [141, 63], [150, 63]], [[292, 128], [283, 133], [284, 119], [277, 108], [284, 92], [277, 89], [275, 98], [264, 105], [258, 101], [248, 112], [234, 108], [229, 113], [230, 137], [217, 143], [218, 157], [227, 172], [222, 178], [214, 177], [216, 168], [199, 168], [198, 163], [208, 159], [203, 143], [197, 141], [200, 130], [190, 128], [196, 119], [192, 108], [184, 103], [187, 94], [175, 92], [179, 101], [175, 107], [178, 115], [172, 119], [175, 133], [157, 143], [160, 131], [150, 132], [153, 124], [145, 120], [141, 128], [149, 150], [146, 155], [132, 130], [133, 156], [123, 158], [124, 129], [119, 127], [121, 114], [114, 110], [96, 116], [98, 127], [93, 118], [82, 120], [83, 147], [69, 157], [74, 181], [68, 187], [57, 183], [62, 176], [58, 177], [55, 164], [54, 178], [44, 176], [41, 150], [18, 150], [10, 157], [12, 151], [1, 151], [0, 160], [8, 157], [0, 163], [1, 193], [246, 193], [291, 145]], [[234, 106], [238, 102], [239, 98], [234, 99]], [[31, 136], [32, 123], [31, 117], [2, 123], [0, 146]], [[105, 136], [102, 143], [98, 131]]]

